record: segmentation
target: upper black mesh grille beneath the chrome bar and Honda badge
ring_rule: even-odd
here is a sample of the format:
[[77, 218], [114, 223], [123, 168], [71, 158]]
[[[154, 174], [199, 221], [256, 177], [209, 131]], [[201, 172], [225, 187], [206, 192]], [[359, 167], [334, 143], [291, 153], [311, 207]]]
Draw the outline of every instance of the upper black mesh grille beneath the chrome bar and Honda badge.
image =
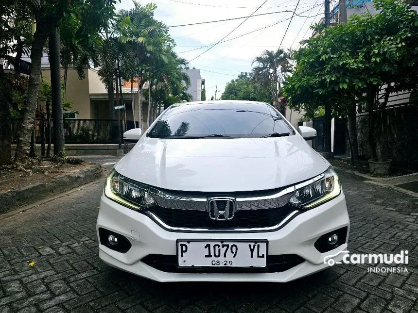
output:
[[274, 209], [240, 210], [235, 213], [231, 220], [216, 221], [210, 219], [206, 211], [175, 210], [158, 206], [149, 209], [149, 212], [157, 215], [159, 219], [171, 227], [214, 230], [273, 227], [293, 211], [295, 211], [295, 208], [291, 206]]

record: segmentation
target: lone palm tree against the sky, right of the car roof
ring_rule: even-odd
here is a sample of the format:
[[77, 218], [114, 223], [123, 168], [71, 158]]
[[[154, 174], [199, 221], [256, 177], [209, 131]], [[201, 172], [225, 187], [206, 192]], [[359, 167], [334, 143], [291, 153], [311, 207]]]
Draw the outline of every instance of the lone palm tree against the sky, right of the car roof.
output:
[[263, 53], [256, 57], [252, 65], [253, 80], [258, 83], [259, 87], [267, 87], [273, 98], [273, 105], [279, 106], [279, 111], [284, 115], [285, 105], [280, 103], [280, 89], [287, 75], [292, 71], [293, 65], [290, 61], [290, 52], [283, 49], [277, 51], [264, 50]]

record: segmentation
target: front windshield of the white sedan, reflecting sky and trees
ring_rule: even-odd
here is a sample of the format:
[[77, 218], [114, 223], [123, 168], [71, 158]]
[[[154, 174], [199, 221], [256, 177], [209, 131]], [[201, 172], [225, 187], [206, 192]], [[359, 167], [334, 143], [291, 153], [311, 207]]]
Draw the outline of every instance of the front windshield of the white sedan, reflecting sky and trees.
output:
[[268, 105], [187, 105], [167, 111], [148, 132], [152, 138], [257, 138], [293, 134]]

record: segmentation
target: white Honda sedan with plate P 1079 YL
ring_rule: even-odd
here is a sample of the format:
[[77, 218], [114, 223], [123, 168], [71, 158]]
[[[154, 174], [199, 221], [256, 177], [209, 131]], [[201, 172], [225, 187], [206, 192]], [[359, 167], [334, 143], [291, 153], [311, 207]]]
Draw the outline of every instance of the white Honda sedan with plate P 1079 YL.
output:
[[99, 256], [157, 281], [277, 281], [330, 266], [349, 218], [330, 163], [271, 105], [174, 104], [107, 177]]

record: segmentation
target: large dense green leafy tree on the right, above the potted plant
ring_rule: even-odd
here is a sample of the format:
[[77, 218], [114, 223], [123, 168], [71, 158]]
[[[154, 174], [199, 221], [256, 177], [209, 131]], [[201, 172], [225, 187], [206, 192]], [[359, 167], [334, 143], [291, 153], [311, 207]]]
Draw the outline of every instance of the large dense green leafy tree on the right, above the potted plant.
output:
[[371, 158], [384, 161], [389, 95], [418, 85], [418, 17], [401, 1], [374, 2], [379, 14], [352, 16], [305, 41], [295, 52], [297, 65], [284, 94], [291, 108], [308, 112], [331, 103], [334, 115], [348, 116], [351, 145], [356, 104], [366, 102]]

